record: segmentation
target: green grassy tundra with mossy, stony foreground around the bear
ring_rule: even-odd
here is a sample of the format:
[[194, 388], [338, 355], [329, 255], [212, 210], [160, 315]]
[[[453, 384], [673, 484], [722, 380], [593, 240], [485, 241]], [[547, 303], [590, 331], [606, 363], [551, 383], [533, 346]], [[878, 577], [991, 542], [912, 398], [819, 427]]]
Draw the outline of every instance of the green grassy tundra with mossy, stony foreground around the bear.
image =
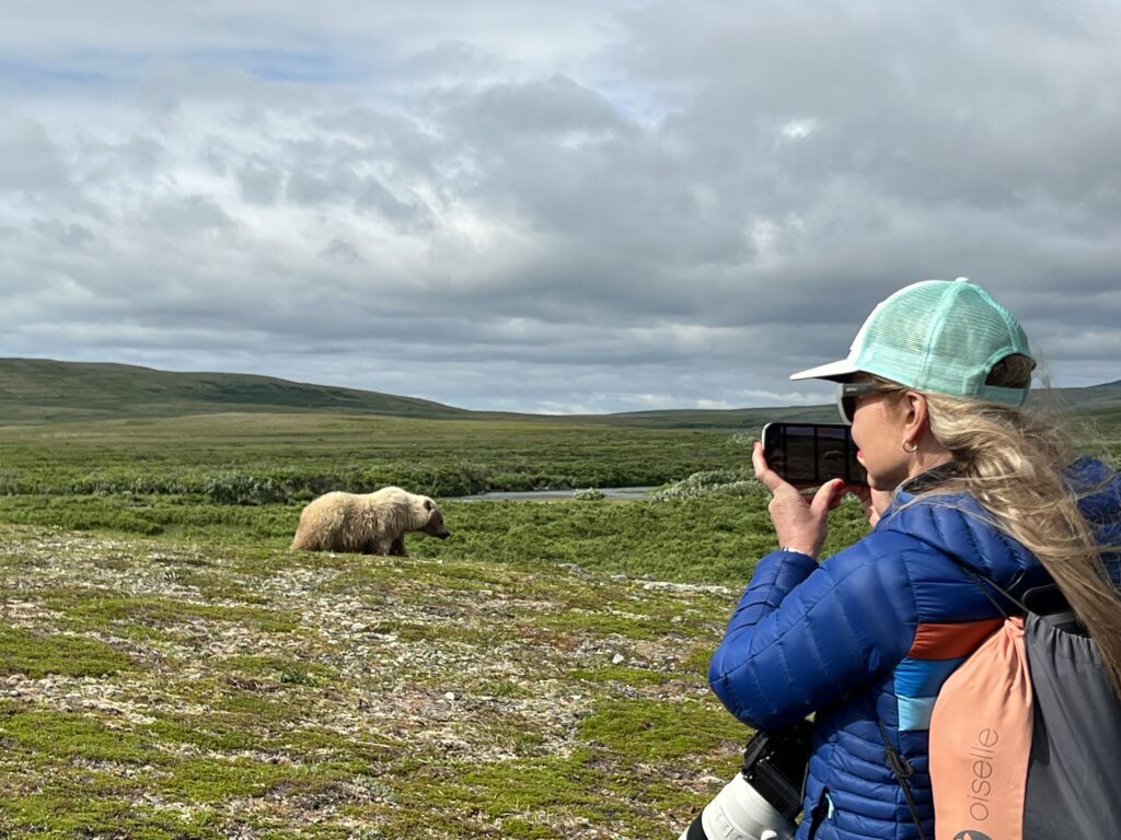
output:
[[[772, 544], [750, 428], [22, 419], [0, 435], [0, 837], [671, 837], [735, 771], [747, 731], [704, 672]], [[666, 501], [447, 498], [703, 470]], [[452, 539], [288, 550], [308, 498], [386, 483], [442, 497]], [[833, 517], [827, 549], [862, 532]]]

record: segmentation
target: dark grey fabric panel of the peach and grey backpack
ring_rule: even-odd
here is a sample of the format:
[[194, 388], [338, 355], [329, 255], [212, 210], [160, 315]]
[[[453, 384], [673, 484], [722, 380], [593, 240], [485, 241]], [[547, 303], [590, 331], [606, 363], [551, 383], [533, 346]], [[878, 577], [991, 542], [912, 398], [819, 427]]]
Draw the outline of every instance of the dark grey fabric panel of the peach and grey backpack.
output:
[[1121, 837], [1121, 702], [1094, 641], [1028, 613], [1034, 691], [1023, 840]]

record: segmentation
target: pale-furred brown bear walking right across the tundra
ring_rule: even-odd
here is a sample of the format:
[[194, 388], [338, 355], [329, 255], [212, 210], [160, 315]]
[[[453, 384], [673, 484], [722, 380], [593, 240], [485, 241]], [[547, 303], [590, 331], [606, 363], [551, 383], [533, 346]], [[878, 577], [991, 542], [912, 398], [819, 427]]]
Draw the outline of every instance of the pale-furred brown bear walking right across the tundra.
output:
[[335, 491], [313, 500], [299, 514], [291, 547], [407, 557], [407, 531], [423, 531], [441, 540], [452, 533], [428, 496], [400, 487], [382, 487], [364, 494]]

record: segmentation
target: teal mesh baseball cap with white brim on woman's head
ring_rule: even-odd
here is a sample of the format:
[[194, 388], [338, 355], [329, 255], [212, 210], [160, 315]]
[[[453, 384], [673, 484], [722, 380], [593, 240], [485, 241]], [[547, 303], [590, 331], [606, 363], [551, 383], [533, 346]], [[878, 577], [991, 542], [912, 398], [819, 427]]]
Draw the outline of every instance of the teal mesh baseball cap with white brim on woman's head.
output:
[[877, 305], [849, 356], [791, 380], [846, 382], [871, 373], [916, 391], [1020, 405], [1023, 388], [985, 384], [993, 365], [1011, 355], [1034, 357], [1016, 317], [964, 277], [906, 286]]

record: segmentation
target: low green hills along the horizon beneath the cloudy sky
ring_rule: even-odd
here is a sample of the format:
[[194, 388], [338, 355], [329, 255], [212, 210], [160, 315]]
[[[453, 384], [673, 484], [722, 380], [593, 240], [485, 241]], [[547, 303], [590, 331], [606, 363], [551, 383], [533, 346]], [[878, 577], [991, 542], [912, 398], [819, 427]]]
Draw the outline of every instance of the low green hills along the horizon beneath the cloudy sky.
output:
[[[1054, 393], [1073, 408], [1121, 412], [1121, 380], [1091, 388], [1055, 389]], [[430, 420], [531, 418], [560, 423], [682, 429], [757, 429], [769, 420], [836, 420], [832, 404], [584, 416], [513, 414], [256, 374], [173, 373], [115, 363], [0, 358], [0, 426], [231, 411], [386, 414]]]

